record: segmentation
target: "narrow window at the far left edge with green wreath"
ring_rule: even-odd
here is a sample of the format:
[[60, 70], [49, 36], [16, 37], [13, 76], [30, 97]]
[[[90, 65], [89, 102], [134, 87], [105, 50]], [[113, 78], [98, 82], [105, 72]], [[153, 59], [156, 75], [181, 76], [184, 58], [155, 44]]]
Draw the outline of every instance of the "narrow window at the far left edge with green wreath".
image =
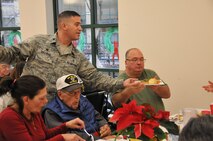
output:
[[0, 0], [0, 44], [11, 46], [21, 42], [18, 0]]

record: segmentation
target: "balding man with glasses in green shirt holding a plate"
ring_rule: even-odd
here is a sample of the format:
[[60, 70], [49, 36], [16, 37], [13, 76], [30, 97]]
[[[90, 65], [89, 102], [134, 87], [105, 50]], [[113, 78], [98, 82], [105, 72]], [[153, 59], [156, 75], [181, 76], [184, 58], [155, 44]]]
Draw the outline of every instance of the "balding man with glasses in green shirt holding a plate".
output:
[[144, 56], [138, 48], [127, 50], [125, 55], [126, 69], [119, 75], [121, 79], [138, 78], [144, 84], [140, 90], [128, 87], [124, 90], [116, 91], [112, 96], [112, 102], [116, 108], [121, 103], [128, 103], [135, 99], [137, 104], [148, 103], [155, 108], [155, 111], [165, 110], [162, 98], [170, 98], [168, 85], [163, 82], [156, 72], [144, 68]]

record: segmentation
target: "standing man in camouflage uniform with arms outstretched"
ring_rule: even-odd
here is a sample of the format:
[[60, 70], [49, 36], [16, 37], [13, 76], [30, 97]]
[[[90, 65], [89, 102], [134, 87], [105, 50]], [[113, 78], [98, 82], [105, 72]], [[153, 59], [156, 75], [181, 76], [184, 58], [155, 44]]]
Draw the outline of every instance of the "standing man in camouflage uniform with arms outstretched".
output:
[[[55, 35], [36, 35], [9, 48], [0, 46], [0, 61], [10, 64], [26, 61], [22, 75], [39, 76], [45, 80], [49, 93], [55, 90], [57, 78], [70, 73], [82, 78], [85, 89], [114, 91], [130, 85], [140, 87], [141, 84], [133, 79], [117, 80], [98, 72], [72, 45], [82, 31], [78, 13], [62, 12], [57, 24]], [[52, 95], [48, 95], [48, 99], [52, 99]]]

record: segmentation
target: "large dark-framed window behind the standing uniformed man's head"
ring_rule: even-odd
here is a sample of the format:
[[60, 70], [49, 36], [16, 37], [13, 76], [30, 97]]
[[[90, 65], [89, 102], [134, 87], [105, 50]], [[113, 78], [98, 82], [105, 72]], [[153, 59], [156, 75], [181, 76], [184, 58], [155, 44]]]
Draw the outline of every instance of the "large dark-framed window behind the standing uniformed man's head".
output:
[[87, 59], [113, 77], [119, 69], [118, 1], [117, 0], [62, 0], [53, 1], [55, 30], [57, 15], [64, 10], [81, 15], [83, 32], [73, 42]]

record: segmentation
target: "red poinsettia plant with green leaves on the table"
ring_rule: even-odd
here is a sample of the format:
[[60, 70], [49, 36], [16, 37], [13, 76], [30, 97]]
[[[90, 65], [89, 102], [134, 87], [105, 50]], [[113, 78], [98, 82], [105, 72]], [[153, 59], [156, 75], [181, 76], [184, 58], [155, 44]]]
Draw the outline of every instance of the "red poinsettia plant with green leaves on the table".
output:
[[178, 126], [169, 121], [168, 111], [155, 112], [151, 105], [137, 105], [135, 100], [128, 104], [123, 103], [122, 107], [114, 112], [110, 121], [116, 122], [117, 135], [127, 135], [143, 141], [166, 139], [166, 133], [160, 125], [171, 134], [179, 133]]

